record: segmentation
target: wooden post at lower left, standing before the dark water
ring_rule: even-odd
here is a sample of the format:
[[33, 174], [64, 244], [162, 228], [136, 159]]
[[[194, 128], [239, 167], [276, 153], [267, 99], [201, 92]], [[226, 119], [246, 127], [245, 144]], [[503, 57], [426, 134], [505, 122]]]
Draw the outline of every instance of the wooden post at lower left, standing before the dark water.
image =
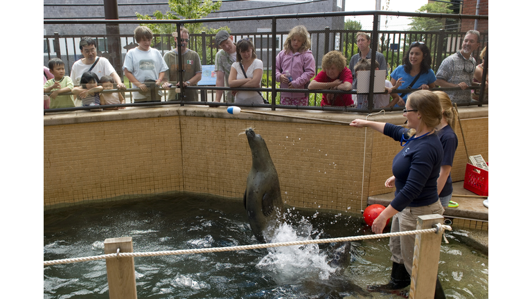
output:
[[[105, 254], [133, 252], [132, 237], [105, 239]], [[109, 299], [136, 299], [135, 265], [133, 257], [120, 257], [105, 260], [107, 266], [107, 282], [109, 283]]]

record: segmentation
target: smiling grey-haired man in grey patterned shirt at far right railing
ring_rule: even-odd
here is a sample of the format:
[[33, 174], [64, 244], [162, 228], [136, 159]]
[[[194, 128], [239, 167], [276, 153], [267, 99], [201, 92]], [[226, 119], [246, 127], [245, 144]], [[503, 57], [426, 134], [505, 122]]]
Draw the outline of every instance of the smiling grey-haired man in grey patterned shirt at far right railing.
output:
[[445, 91], [452, 102], [470, 102], [471, 100], [471, 91], [467, 87], [473, 82], [477, 61], [472, 53], [479, 48], [479, 41], [480, 33], [477, 30], [469, 30], [465, 33], [461, 50], [445, 58], [436, 73], [436, 85], [462, 89], [461, 91]]

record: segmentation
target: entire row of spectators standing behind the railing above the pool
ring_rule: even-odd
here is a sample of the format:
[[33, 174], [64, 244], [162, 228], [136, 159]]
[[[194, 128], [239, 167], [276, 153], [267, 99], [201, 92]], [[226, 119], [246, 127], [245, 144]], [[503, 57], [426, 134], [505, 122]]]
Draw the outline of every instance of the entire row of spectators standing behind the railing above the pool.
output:
[[[168, 91], [168, 100], [197, 101], [197, 89], [193, 87], [202, 80], [202, 64], [198, 53], [188, 48], [190, 42], [186, 28], [172, 33], [175, 48], [164, 56], [151, 47], [152, 31], [145, 26], [134, 30], [137, 46], [127, 51], [122, 71], [136, 91], [132, 92], [132, 102], [160, 102], [163, 90]], [[178, 40], [179, 39], [179, 40]], [[216, 90], [213, 102], [235, 104], [268, 103], [260, 91], [241, 91], [233, 88], [260, 88], [263, 79], [263, 62], [258, 59], [251, 39], [233, 41], [226, 30], [215, 35], [215, 44], [220, 48], [215, 55], [216, 87], [229, 87], [229, 90]], [[461, 49], [445, 58], [437, 73], [431, 69], [432, 55], [425, 42], [412, 42], [402, 58], [402, 64], [389, 74], [389, 64], [382, 53], [369, 47], [371, 37], [357, 33], [358, 53], [347, 59], [339, 51], [323, 55], [322, 70], [316, 73], [314, 55], [310, 50], [310, 34], [305, 26], [295, 26], [290, 30], [283, 44], [283, 50], [276, 56], [275, 81], [281, 89], [294, 89], [294, 92], [281, 91], [281, 105], [307, 106], [308, 90], [346, 91], [323, 93], [321, 106], [343, 106], [367, 109], [368, 93], [353, 93], [369, 85], [371, 66], [375, 73], [384, 73], [384, 79], [375, 76], [373, 95], [375, 109], [404, 107], [411, 91], [396, 92], [396, 89], [434, 89], [435, 87], [459, 87], [461, 90], [445, 91], [452, 102], [464, 103], [479, 100], [479, 89], [470, 89], [481, 82], [484, 61], [477, 64], [473, 51], [480, 45], [480, 34], [469, 30], [463, 38]], [[124, 104], [120, 91], [126, 89], [112, 64], [105, 57], [98, 57], [96, 41], [82, 37], [79, 43], [82, 59], [74, 62], [70, 75], [65, 74], [64, 62], [53, 58], [44, 67], [44, 108], [88, 107], [96, 105]], [[484, 58], [486, 48], [481, 52]], [[181, 57], [179, 57], [179, 53]], [[183, 66], [181, 66], [183, 64]], [[183, 78], [179, 78], [182, 72]], [[389, 80], [386, 77], [389, 75]], [[181, 81], [182, 80], [182, 81]], [[183, 95], [176, 93], [181, 84]], [[485, 99], [487, 99], [488, 78], [486, 76]], [[361, 86], [358, 86], [361, 85]], [[119, 92], [103, 90], [118, 89]], [[64, 94], [70, 93], [70, 94]], [[124, 108], [124, 107], [120, 107]], [[107, 108], [109, 109], [109, 108]], [[114, 108], [118, 109], [118, 108]]]

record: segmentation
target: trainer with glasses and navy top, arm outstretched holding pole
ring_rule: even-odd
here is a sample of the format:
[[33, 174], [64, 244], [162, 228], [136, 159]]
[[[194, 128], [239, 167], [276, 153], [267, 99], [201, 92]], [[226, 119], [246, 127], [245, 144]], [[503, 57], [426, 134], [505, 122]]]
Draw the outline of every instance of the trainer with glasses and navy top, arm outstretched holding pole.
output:
[[[432, 91], [410, 93], [403, 116], [407, 127], [355, 119], [353, 127], [370, 127], [384, 135], [400, 141], [402, 149], [393, 158], [391, 170], [394, 174], [385, 183], [396, 186], [395, 197], [373, 221], [373, 233], [382, 233], [387, 220], [391, 220], [391, 232], [416, 229], [416, 219], [421, 215], [443, 215], [443, 206], [438, 197], [437, 181], [440, 174], [443, 148], [436, 134], [436, 127], [442, 119], [441, 104]], [[408, 133], [408, 134], [407, 134]], [[415, 235], [391, 237], [391, 280], [388, 284], [369, 286], [370, 291], [392, 293], [410, 284], [414, 260]], [[445, 298], [439, 280], [436, 280], [434, 298]]]

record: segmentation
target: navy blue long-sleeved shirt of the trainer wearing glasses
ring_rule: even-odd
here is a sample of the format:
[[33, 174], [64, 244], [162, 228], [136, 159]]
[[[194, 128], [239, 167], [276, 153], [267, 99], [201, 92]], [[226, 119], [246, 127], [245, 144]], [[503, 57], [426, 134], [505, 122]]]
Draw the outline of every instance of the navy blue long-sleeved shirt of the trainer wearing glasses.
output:
[[[401, 141], [407, 130], [389, 123], [384, 125], [384, 134], [396, 141]], [[411, 140], [402, 147], [391, 166], [396, 176], [396, 197], [390, 205], [401, 211], [407, 206], [428, 206], [438, 201], [437, 181], [442, 157], [443, 147], [436, 134]]]

